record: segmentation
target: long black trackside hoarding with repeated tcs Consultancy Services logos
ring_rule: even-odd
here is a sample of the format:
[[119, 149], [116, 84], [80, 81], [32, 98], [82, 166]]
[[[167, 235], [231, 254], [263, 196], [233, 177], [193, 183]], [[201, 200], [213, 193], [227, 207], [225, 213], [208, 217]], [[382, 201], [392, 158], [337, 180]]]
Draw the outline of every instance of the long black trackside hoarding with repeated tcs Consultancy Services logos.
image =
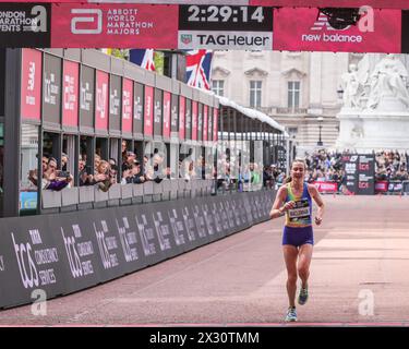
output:
[[274, 191], [3, 218], [0, 308], [133, 273], [268, 218]]

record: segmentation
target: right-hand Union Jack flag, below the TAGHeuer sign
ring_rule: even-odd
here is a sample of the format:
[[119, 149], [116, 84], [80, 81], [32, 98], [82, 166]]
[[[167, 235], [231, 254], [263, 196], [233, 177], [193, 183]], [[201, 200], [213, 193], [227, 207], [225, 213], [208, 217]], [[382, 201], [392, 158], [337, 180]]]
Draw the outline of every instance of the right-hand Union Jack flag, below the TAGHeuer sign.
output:
[[212, 50], [187, 51], [187, 84], [210, 89]]

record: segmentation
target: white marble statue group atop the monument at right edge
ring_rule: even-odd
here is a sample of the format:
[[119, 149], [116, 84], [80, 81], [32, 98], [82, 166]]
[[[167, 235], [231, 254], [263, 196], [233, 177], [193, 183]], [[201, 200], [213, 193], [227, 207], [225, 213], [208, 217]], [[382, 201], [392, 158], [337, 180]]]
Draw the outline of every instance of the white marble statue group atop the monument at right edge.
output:
[[388, 55], [382, 59], [370, 76], [370, 95], [368, 108], [380, 109], [381, 101], [398, 99], [406, 108], [409, 107], [409, 94], [406, 88], [408, 72], [402, 62]]

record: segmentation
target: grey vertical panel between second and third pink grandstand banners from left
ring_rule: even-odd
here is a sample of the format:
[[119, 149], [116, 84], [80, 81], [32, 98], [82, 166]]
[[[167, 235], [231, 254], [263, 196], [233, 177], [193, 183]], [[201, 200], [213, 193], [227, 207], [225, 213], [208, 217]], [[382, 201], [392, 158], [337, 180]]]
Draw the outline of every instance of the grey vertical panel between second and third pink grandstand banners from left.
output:
[[81, 65], [80, 127], [94, 128], [95, 69]]

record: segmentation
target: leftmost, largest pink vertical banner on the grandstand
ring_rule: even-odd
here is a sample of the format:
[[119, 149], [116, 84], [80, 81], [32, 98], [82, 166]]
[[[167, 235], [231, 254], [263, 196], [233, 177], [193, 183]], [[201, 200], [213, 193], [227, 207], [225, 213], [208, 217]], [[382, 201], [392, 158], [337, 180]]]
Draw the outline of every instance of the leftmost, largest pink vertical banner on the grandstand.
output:
[[23, 48], [21, 116], [22, 119], [41, 119], [41, 71], [40, 51]]

